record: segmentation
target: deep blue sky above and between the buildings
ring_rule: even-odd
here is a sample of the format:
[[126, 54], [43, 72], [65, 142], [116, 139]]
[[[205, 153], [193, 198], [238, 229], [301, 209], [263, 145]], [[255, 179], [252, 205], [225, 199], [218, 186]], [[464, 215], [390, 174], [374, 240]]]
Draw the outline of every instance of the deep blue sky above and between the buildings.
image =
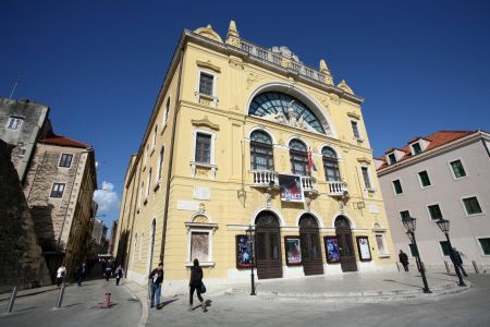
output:
[[[110, 226], [183, 28], [230, 20], [264, 47], [326, 59], [365, 98], [379, 156], [438, 130], [490, 130], [489, 1], [0, 2], [0, 97], [50, 106], [57, 133], [94, 145]], [[294, 4], [293, 4], [294, 3]]]

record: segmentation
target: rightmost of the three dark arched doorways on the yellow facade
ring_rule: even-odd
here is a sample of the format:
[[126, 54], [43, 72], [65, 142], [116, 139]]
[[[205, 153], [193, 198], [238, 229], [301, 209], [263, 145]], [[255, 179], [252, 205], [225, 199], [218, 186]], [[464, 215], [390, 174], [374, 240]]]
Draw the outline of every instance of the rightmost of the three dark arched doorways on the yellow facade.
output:
[[357, 271], [351, 225], [348, 223], [347, 218], [339, 216], [335, 219], [335, 234], [339, 240], [342, 271]]

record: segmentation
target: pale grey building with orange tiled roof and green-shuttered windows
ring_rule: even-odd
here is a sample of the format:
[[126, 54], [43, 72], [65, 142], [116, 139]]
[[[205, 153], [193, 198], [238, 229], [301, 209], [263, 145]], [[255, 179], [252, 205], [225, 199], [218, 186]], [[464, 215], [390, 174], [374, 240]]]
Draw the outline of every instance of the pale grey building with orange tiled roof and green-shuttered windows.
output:
[[490, 268], [490, 135], [481, 131], [439, 131], [414, 137], [377, 159], [388, 219], [396, 251], [414, 255], [402, 225], [416, 218], [417, 245], [428, 269], [444, 269], [450, 247], [436, 221], [450, 220], [451, 243]]

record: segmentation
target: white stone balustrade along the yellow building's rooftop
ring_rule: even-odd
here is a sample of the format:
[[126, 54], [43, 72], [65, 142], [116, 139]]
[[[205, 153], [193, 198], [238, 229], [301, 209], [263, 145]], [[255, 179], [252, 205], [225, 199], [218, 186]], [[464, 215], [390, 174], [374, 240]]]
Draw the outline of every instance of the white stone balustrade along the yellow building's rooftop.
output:
[[[278, 55], [275, 52], [272, 52], [270, 50], [260, 48], [260, 47], [258, 47], [258, 46], [256, 46], [254, 44], [249, 44], [249, 43], [246, 43], [244, 40], [241, 40], [240, 47], [241, 47], [242, 50], [244, 50], [244, 51], [250, 53], [252, 56], [257, 57], [257, 58], [259, 58], [261, 60], [271, 62], [271, 63], [273, 63], [275, 65], [280, 65], [280, 66], [283, 66], [283, 68], [290, 68], [290, 69], [298, 72], [301, 75], [304, 75], [304, 76], [306, 76], [308, 78], [318, 81], [320, 83], [326, 83], [326, 75], [324, 74], [322, 74], [320, 72], [317, 72], [316, 70], [314, 70], [314, 69], [311, 69], [311, 68], [309, 68], [309, 66], [307, 66], [307, 65], [305, 65], [305, 64], [303, 64], [301, 62], [293, 61], [292, 59], [289, 59], [286, 57], [282, 57], [282, 56]], [[284, 60], [290, 62], [289, 66], [286, 66], [284, 64]]]

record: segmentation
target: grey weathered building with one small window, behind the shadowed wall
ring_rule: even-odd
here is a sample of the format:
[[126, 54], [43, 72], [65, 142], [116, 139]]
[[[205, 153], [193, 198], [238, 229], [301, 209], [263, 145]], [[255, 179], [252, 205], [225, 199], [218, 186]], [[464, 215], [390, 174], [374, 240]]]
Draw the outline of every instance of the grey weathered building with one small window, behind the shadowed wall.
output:
[[0, 98], [0, 140], [13, 145], [12, 162], [24, 183], [36, 142], [48, 120], [49, 108], [29, 100]]

